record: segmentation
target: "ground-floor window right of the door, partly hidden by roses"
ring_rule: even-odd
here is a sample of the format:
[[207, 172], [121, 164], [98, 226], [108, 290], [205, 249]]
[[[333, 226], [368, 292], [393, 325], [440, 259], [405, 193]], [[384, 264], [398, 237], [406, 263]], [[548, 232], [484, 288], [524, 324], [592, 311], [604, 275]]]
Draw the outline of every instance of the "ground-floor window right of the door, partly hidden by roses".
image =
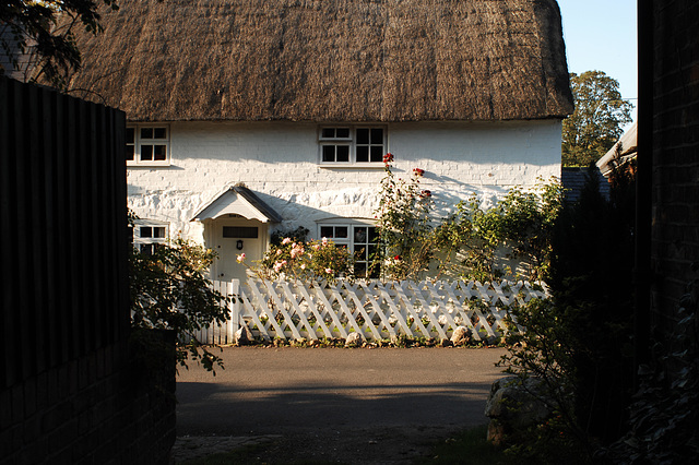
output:
[[354, 254], [357, 277], [379, 277], [378, 266], [371, 266], [377, 253], [377, 228], [366, 224], [319, 225], [320, 237], [331, 239], [336, 247], [347, 247]]

